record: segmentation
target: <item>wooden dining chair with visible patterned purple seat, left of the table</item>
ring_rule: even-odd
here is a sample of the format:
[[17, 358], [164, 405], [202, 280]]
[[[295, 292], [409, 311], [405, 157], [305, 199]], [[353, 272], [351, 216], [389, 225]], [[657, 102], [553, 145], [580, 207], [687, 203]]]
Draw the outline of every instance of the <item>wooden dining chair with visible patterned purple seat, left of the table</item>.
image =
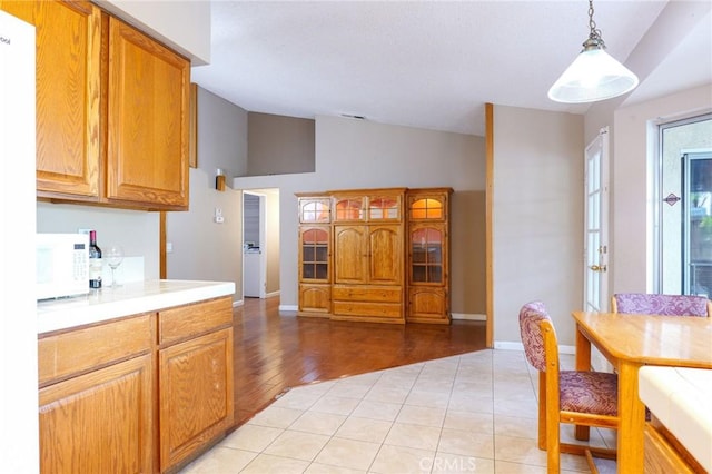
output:
[[538, 448], [546, 450], [550, 474], [561, 470], [561, 453], [615, 458], [615, 450], [561, 442], [561, 424], [617, 428], [617, 376], [587, 371], [561, 371], [556, 332], [542, 302], [520, 310], [520, 332], [527, 362], [538, 371]]

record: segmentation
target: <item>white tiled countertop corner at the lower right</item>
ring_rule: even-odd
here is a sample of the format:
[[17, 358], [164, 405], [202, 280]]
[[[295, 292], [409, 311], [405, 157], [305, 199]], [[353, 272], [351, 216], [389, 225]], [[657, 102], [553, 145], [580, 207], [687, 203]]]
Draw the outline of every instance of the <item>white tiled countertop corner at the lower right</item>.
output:
[[641, 401], [712, 473], [712, 369], [641, 367]]

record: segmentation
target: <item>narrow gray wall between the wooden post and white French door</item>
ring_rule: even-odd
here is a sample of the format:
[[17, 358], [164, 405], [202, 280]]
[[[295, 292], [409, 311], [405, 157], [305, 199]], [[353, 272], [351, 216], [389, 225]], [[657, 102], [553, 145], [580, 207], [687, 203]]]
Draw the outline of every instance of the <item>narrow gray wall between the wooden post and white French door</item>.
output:
[[494, 339], [518, 342], [522, 305], [542, 299], [573, 345], [583, 302], [583, 117], [494, 109]]

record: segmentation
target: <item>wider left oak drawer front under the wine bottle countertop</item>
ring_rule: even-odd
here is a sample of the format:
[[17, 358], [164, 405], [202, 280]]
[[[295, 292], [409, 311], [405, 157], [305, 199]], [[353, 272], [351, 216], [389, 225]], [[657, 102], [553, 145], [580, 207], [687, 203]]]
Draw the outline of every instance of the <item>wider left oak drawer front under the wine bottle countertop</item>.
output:
[[150, 314], [42, 337], [38, 340], [39, 383], [148, 353], [155, 339]]

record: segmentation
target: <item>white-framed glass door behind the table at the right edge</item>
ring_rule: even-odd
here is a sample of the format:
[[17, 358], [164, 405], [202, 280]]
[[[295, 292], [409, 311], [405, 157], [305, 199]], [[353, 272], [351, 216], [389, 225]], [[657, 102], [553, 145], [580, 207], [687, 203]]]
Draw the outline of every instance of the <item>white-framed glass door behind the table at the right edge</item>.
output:
[[660, 126], [657, 283], [712, 296], [712, 113]]

